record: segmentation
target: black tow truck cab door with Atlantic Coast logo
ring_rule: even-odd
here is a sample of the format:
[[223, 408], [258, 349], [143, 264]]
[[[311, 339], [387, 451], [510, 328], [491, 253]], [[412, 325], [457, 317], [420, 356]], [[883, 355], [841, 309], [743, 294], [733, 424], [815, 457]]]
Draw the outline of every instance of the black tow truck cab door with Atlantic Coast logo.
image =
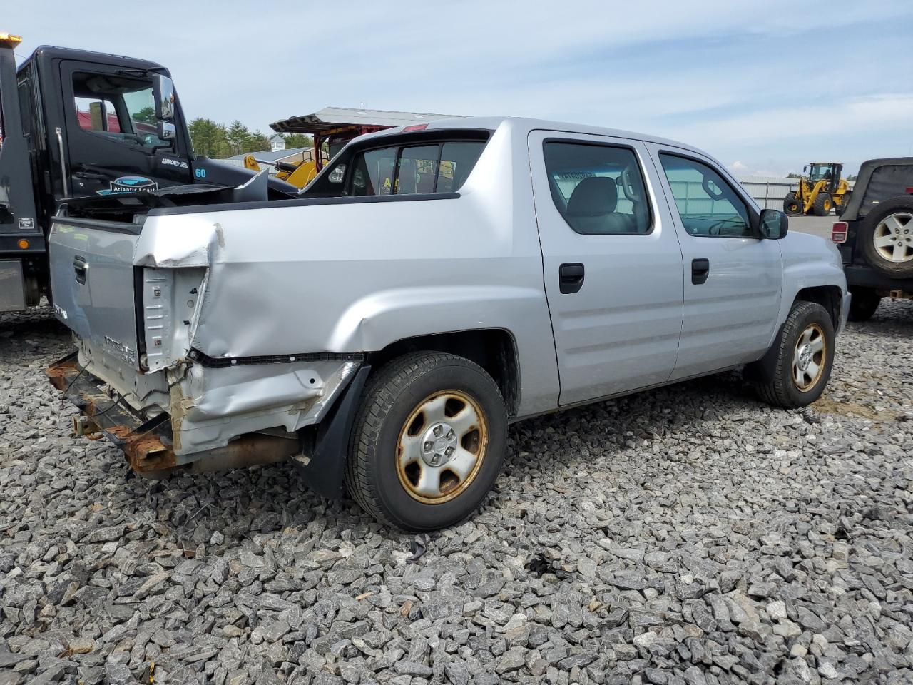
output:
[[[193, 181], [178, 143], [156, 134], [152, 74], [63, 60], [60, 66], [69, 195], [155, 190]], [[52, 136], [57, 131], [49, 132]]]

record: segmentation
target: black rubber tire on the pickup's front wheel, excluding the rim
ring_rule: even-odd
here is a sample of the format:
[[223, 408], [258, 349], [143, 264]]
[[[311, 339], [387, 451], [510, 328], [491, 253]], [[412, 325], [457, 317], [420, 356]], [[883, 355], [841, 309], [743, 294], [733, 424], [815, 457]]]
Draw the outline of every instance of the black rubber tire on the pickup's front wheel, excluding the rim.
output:
[[[811, 326], [817, 326], [824, 339], [824, 354], [818, 362], [822, 369], [813, 383], [800, 387], [793, 377], [792, 364], [800, 336]], [[834, 322], [830, 314], [816, 302], [796, 302], [769, 354], [773, 355], [772, 374], [756, 385], [761, 399], [787, 409], [812, 404], [824, 392], [834, 365]], [[813, 361], [818, 361], [816, 356]]]

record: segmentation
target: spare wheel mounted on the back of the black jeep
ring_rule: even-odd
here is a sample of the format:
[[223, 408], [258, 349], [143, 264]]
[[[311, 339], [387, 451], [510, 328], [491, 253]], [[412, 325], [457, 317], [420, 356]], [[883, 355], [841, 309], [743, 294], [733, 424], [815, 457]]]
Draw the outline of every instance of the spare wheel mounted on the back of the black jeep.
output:
[[856, 242], [873, 269], [894, 278], [913, 278], [913, 197], [888, 200], [869, 212]]

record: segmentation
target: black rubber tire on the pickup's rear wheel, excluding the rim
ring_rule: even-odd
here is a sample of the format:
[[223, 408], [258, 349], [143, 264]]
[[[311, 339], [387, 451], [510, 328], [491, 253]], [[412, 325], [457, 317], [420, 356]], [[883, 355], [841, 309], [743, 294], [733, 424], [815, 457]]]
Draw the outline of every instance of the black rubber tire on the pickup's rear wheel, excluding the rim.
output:
[[[407, 489], [415, 488], [415, 484], [406, 482], [411, 478], [406, 469], [415, 467], [424, 474], [425, 464], [418, 459], [414, 464], [400, 466], [400, 438], [412, 430], [419, 416], [423, 423], [418, 431], [434, 427], [434, 423], [426, 426], [425, 416], [415, 412], [436, 395], [446, 395], [446, 391], [455, 391], [475, 403], [471, 408], [478, 410], [479, 424], [484, 429], [477, 440], [485, 444], [480, 463], [464, 482], [455, 486], [453, 491], [457, 494], [442, 494], [438, 502], [419, 501], [419, 494]], [[466, 519], [488, 495], [504, 460], [507, 428], [507, 410], [498, 385], [478, 364], [447, 353], [405, 354], [385, 364], [368, 381], [352, 430], [346, 485], [355, 501], [378, 522], [407, 531], [446, 528]], [[418, 438], [421, 432], [414, 435]], [[480, 437], [485, 435], [487, 441]], [[455, 472], [446, 469], [438, 473], [439, 483], [444, 482], [445, 476], [456, 477]], [[438, 485], [438, 490], [443, 488]]]

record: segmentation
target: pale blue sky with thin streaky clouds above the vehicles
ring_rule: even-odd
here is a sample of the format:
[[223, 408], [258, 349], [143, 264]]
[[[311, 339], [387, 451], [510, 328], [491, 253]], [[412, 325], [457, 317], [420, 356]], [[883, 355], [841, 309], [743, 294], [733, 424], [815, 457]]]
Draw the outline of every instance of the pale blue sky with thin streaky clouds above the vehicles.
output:
[[23, 56], [47, 43], [159, 61], [190, 117], [264, 131], [334, 105], [649, 132], [741, 174], [913, 155], [909, 0], [88, 6], [17, 3], [0, 29], [25, 37]]

